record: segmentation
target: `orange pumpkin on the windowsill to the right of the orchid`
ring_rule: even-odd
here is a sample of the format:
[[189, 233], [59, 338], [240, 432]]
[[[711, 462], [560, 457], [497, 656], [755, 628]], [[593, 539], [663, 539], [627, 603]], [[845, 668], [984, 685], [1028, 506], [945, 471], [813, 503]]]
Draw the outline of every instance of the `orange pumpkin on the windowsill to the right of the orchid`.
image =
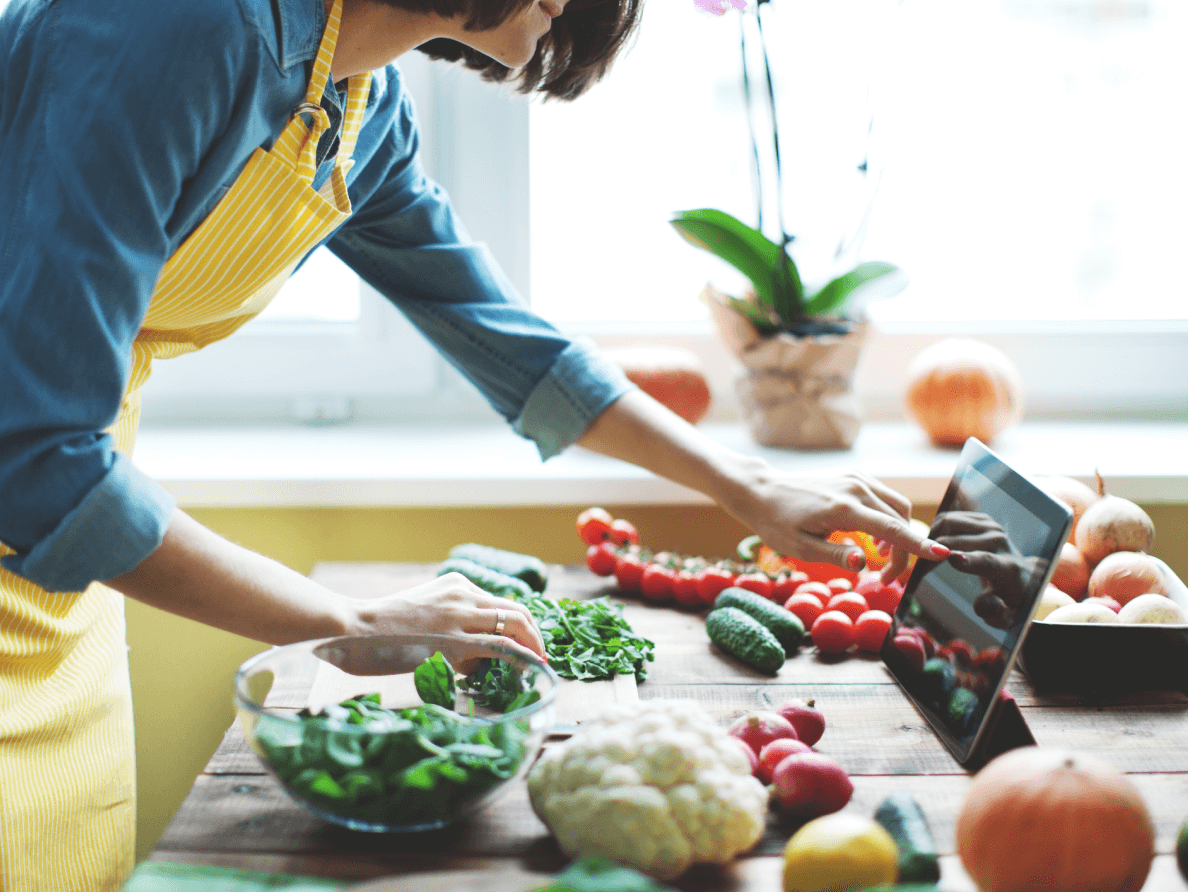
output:
[[909, 412], [937, 445], [988, 442], [1023, 417], [1023, 380], [1010, 358], [981, 341], [949, 337], [908, 366]]

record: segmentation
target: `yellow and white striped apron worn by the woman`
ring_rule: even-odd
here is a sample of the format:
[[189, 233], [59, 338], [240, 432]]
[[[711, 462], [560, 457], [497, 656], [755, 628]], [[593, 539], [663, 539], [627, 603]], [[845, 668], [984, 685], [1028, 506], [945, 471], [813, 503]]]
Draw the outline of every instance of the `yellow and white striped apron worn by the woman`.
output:
[[[162, 270], [109, 432], [131, 455], [154, 359], [226, 337], [263, 310], [350, 213], [346, 172], [371, 75], [349, 80], [334, 171], [312, 189], [341, 1], [305, 102]], [[308, 116], [311, 126], [303, 120]], [[4, 549], [0, 545], [0, 549]], [[135, 758], [124, 599], [93, 583], [52, 594], [0, 569], [0, 890], [116, 890], [135, 850]]]

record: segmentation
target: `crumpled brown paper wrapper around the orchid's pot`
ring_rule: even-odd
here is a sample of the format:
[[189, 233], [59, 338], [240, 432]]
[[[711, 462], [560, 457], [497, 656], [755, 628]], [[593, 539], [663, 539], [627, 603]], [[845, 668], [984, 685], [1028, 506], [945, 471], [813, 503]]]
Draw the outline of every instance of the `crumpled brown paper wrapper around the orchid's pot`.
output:
[[854, 444], [861, 416], [853, 380], [865, 323], [845, 335], [760, 335], [712, 285], [701, 297], [722, 342], [744, 366], [734, 387], [756, 442], [790, 449]]

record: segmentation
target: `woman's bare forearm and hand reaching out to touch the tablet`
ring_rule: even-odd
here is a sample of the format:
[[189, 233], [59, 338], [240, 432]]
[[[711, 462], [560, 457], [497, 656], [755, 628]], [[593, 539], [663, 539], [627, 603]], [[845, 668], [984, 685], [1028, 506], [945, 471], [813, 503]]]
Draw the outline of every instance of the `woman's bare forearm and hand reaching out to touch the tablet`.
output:
[[949, 553], [911, 529], [911, 502], [879, 481], [853, 472], [834, 477], [777, 472], [712, 441], [642, 391], [611, 404], [577, 442], [704, 493], [766, 545], [794, 557], [860, 569], [861, 549], [827, 540], [839, 530], [891, 543], [885, 578], [904, 569], [909, 553], [933, 561]]

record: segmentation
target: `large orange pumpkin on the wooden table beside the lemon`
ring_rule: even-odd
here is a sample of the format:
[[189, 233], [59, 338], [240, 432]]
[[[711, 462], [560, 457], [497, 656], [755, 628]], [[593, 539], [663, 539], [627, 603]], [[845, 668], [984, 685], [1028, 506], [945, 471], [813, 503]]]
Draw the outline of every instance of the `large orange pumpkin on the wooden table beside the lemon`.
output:
[[1022, 747], [973, 779], [958, 854], [981, 892], [1138, 892], [1155, 858], [1143, 797], [1104, 760]]

